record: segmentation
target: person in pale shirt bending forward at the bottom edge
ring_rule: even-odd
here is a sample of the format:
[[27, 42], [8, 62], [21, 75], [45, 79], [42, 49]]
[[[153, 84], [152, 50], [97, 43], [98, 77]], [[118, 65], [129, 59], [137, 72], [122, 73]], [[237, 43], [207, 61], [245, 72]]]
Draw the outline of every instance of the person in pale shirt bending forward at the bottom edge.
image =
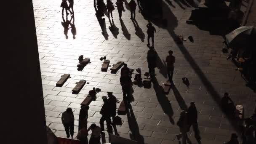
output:
[[97, 126], [95, 123], [91, 124], [91, 126], [87, 129], [88, 131], [92, 131], [91, 138], [89, 140], [89, 144], [100, 144], [101, 140], [101, 128]]

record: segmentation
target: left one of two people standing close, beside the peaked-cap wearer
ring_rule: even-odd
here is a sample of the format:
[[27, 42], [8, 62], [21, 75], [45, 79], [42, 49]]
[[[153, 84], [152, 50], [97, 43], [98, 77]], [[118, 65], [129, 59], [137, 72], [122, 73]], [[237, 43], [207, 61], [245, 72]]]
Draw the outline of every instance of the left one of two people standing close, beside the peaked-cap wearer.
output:
[[101, 131], [105, 130], [104, 121], [106, 120], [108, 132], [113, 133], [112, 126], [111, 126], [111, 119], [110, 119], [110, 111], [109, 111], [110, 106], [109, 106], [109, 102], [107, 101], [107, 96], [102, 96], [102, 99], [104, 101], [104, 104], [101, 107], [101, 110], [99, 112], [102, 115], [101, 119], [99, 120], [99, 123], [101, 125]]

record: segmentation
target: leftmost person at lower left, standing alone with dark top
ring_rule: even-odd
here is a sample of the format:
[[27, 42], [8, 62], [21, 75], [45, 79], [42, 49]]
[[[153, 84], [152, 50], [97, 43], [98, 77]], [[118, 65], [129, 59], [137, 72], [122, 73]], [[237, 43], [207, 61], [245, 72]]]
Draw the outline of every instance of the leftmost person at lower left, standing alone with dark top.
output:
[[[62, 113], [61, 121], [62, 121], [62, 124], [64, 125], [67, 138], [69, 138], [69, 136], [71, 135], [71, 139], [73, 139], [75, 117], [70, 107], [67, 108], [66, 111]], [[70, 135], [69, 135], [69, 132], [70, 132]]]

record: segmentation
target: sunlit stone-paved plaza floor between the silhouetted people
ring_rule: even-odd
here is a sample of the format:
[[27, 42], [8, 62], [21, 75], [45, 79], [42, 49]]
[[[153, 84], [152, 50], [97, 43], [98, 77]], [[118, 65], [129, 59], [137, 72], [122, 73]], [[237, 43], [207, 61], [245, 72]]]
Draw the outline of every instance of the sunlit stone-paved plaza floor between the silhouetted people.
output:
[[[116, 0], [112, 0], [115, 2]], [[125, 0], [128, 3], [129, 0]], [[186, 2], [186, 0], [184, 0]], [[216, 101], [224, 92], [230, 93], [235, 104], [244, 106], [245, 117], [253, 113], [256, 94], [245, 86], [245, 80], [235, 65], [222, 53], [223, 37], [211, 35], [208, 31], [198, 29], [195, 25], [186, 24], [192, 6], [182, 0], [163, 0], [163, 16], [168, 26], [163, 27], [153, 22], [156, 28], [155, 50], [158, 54], [156, 81], [152, 88], [133, 85], [135, 101], [131, 103], [136, 123], [132, 131], [143, 137], [145, 144], [178, 144], [176, 125], [179, 112], [195, 101], [198, 111], [198, 124], [203, 144], [222, 144], [230, 139], [236, 129], [225, 117]], [[106, 3], [106, 1], [105, 1]], [[80, 103], [93, 87], [101, 88], [96, 101], [90, 104], [88, 125], [99, 124], [99, 111], [103, 104], [102, 96], [112, 91], [120, 101], [123, 94], [120, 85], [120, 71], [117, 74], [101, 72], [99, 58], [106, 56], [113, 65], [125, 61], [129, 68], [141, 68], [142, 74], [148, 71], [147, 64], [147, 27], [148, 21], [136, 9], [136, 21], [131, 21], [128, 6], [123, 12], [123, 21], [118, 18], [117, 8], [113, 11], [114, 19], [99, 22], [95, 15], [93, 0], [75, 0], [74, 18], [61, 15], [61, 0], [33, 0], [40, 67], [45, 102], [47, 125], [57, 136], [66, 137], [61, 123], [61, 114], [71, 107], [75, 114], [75, 136], [77, 135]], [[65, 22], [67, 37], [64, 35]], [[64, 23], [62, 23], [64, 22]], [[100, 25], [101, 23], [101, 25]], [[76, 34], [72, 32], [76, 29]], [[177, 44], [173, 38], [183, 35], [183, 44]], [[192, 36], [194, 42], [188, 40]], [[175, 87], [169, 94], [162, 92], [162, 83], [167, 79], [164, 63], [168, 51], [176, 57], [173, 80]], [[78, 57], [90, 58], [83, 71], [77, 71]], [[56, 87], [56, 82], [63, 74], [71, 78], [63, 85]], [[134, 72], [133, 77], [136, 72]], [[181, 78], [189, 79], [189, 88]], [[72, 88], [79, 80], [87, 80], [79, 94], [72, 94]], [[118, 105], [117, 105], [118, 107]], [[123, 125], [117, 127], [120, 136], [131, 139], [127, 116], [120, 116]], [[175, 124], [170, 121], [174, 120]], [[190, 130], [189, 139], [196, 140]], [[108, 135], [106, 134], [106, 137]]]

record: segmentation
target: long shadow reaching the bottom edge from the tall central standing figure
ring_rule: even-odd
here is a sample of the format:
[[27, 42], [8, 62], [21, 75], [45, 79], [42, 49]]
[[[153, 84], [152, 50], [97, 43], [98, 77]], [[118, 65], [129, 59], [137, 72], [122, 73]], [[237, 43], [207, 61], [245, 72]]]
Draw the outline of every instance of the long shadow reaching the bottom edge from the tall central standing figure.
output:
[[144, 138], [139, 133], [139, 125], [133, 113], [131, 104], [128, 102], [125, 102], [125, 109], [126, 109], [126, 115], [128, 118], [128, 125], [131, 131], [130, 138], [132, 140], [138, 141], [138, 144], [144, 144]]

